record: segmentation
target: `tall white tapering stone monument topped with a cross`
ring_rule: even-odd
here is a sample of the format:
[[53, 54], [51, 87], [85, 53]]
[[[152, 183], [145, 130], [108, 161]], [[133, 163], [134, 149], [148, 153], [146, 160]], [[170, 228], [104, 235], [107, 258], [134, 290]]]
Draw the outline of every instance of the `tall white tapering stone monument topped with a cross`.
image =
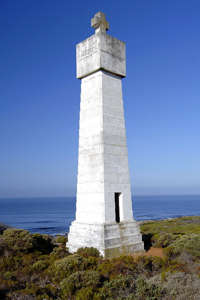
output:
[[95, 34], [76, 46], [81, 79], [76, 220], [70, 252], [96, 247], [103, 257], [142, 251], [133, 220], [121, 79], [126, 76], [125, 43], [105, 32], [104, 13], [91, 20]]

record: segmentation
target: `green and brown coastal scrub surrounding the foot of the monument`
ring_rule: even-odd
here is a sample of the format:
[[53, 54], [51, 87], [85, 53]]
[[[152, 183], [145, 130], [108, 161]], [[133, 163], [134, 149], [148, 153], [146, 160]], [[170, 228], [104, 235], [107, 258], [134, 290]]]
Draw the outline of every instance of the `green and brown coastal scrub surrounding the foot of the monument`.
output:
[[58, 247], [66, 237], [0, 224], [0, 299], [199, 300], [199, 227], [199, 217], [145, 223], [143, 241], [162, 258], [103, 259], [93, 247]]

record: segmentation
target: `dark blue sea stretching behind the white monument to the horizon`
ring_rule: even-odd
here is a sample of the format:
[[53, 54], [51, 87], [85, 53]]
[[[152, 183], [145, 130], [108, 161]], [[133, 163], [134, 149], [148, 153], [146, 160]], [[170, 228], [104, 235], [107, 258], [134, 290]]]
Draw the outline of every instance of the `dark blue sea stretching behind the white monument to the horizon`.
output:
[[[200, 195], [132, 196], [134, 219], [200, 215]], [[31, 233], [64, 234], [75, 220], [76, 198], [0, 199], [0, 222]]]

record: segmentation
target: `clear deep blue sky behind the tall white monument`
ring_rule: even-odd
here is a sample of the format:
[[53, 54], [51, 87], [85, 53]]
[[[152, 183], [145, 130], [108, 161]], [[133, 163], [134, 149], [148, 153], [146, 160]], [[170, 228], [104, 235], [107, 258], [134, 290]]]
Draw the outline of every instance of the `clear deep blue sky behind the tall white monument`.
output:
[[199, 0], [1, 0], [0, 197], [75, 196], [76, 44], [126, 43], [132, 194], [200, 194]]

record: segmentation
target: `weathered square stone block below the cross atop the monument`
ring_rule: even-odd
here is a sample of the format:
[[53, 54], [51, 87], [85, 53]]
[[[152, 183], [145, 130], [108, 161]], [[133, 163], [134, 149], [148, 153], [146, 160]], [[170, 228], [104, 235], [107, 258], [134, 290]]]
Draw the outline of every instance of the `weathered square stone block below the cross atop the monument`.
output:
[[122, 78], [126, 76], [125, 43], [98, 32], [76, 45], [77, 78], [98, 70], [106, 70]]

